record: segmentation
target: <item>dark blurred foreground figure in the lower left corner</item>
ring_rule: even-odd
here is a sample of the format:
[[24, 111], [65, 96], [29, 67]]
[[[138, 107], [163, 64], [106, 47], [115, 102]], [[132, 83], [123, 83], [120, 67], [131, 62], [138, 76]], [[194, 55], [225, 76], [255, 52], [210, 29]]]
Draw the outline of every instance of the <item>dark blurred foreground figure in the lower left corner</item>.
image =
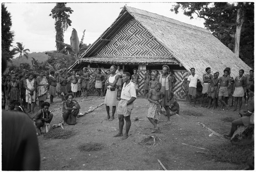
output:
[[22, 112], [2, 111], [2, 170], [39, 170], [35, 127]]

